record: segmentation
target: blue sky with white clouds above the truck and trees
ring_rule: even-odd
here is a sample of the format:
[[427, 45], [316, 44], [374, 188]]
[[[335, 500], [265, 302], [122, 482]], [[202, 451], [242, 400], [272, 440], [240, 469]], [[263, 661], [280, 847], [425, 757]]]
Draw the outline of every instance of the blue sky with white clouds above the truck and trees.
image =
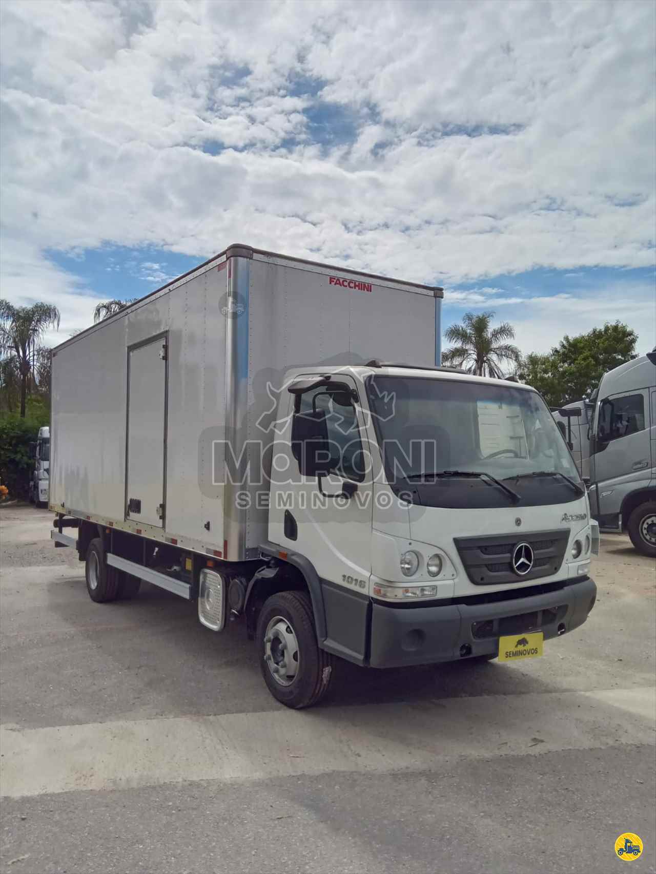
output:
[[2, 294], [51, 342], [239, 241], [656, 343], [651, 0], [0, 12]]

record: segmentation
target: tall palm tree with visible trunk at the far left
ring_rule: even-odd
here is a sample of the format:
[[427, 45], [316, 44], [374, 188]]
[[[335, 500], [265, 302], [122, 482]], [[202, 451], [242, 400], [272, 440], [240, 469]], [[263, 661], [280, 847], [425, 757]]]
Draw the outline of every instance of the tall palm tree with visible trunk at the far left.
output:
[[0, 355], [15, 359], [20, 378], [20, 415], [25, 418], [25, 399], [30, 379], [36, 381], [40, 339], [51, 326], [59, 329], [59, 309], [38, 302], [31, 307], [15, 307], [0, 300]]

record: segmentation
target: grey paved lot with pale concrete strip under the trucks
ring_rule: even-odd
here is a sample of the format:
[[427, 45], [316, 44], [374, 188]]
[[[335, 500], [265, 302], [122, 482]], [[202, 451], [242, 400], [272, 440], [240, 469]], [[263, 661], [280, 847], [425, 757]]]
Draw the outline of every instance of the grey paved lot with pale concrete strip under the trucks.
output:
[[373, 672], [291, 712], [240, 627], [95, 605], [52, 515], [0, 510], [0, 871], [655, 871], [653, 562], [606, 536], [542, 659]]

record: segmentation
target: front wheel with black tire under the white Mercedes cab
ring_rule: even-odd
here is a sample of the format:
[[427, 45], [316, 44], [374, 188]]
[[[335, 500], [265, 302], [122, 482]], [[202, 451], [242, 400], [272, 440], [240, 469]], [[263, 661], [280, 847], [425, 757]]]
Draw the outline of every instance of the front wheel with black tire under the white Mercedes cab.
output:
[[318, 704], [330, 686], [332, 656], [318, 647], [309, 595], [271, 595], [260, 611], [255, 641], [273, 697], [295, 710]]

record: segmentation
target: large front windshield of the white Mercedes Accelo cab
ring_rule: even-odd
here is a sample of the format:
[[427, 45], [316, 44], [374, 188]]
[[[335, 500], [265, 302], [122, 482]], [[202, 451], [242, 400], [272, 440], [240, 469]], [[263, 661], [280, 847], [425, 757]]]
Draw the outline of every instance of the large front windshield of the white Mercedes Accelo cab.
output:
[[438, 478], [443, 471], [495, 477], [512, 486], [522, 503], [580, 497], [563, 479], [581, 482], [576, 465], [535, 392], [455, 379], [382, 376], [367, 380], [367, 392], [387, 482], [394, 490], [411, 483], [420, 503], [426, 503], [427, 489], [429, 503], [445, 502], [439, 506], [507, 503], [503, 490], [492, 489], [489, 479]]

